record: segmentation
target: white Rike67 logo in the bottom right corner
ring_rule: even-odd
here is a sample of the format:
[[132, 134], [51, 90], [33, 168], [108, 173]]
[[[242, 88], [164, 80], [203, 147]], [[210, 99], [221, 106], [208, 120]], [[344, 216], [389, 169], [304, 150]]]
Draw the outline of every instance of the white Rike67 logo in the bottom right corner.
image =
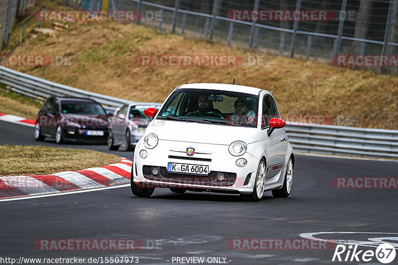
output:
[[389, 264], [394, 261], [396, 257], [396, 250], [393, 245], [384, 243], [377, 247], [376, 251], [373, 250], [358, 250], [358, 245], [337, 245], [333, 254], [332, 261], [339, 262], [370, 262], [374, 258], [384, 264]]

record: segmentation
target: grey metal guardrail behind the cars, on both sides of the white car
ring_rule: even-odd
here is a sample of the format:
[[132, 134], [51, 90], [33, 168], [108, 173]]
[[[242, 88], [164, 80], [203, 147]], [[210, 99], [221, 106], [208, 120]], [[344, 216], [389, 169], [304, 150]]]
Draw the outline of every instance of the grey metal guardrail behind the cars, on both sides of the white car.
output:
[[[13, 92], [45, 99], [53, 95], [87, 97], [107, 111], [131, 102], [51, 82], [0, 66], [0, 83]], [[398, 159], [398, 131], [287, 123], [286, 131], [298, 152]]]

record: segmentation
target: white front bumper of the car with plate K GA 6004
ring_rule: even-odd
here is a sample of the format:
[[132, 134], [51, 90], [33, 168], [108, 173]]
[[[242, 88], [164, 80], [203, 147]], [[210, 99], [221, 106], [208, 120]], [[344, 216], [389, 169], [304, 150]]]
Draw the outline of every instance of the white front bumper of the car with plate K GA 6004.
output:
[[[189, 157], [182, 150], [190, 146], [195, 147], [198, 152], [205, 151], [208, 154], [194, 154]], [[148, 153], [144, 159], [139, 156], [142, 149]], [[147, 149], [140, 142], [135, 150], [133, 176], [135, 184], [140, 187], [213, 190], [241, 194], [253, 191], [259, 160], [248, 152], [239, 157], [232, 156], [228, 151], [228, 145], [159, 140], [154, 149]], [[239, 158], [247, 160], [246, 166], [236, 165]], [[209, 174], [202, 176], [171, 173], [167, 171], [168, 163], [207, 165]], [[152, 174], [155, 167], [159, 171], [157, 175]], [[218, 180], [219, 174], [223, 174], [226, 180]]]

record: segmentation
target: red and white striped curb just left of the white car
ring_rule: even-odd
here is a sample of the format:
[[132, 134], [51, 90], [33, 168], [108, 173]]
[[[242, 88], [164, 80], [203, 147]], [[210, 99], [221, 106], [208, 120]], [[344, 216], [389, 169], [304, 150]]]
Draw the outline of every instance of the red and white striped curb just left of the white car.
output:
[[132, 161], [77, 171], [64, 171], [51, 175], [0, 177], [0, 199], [38, 196], [128, 183]]

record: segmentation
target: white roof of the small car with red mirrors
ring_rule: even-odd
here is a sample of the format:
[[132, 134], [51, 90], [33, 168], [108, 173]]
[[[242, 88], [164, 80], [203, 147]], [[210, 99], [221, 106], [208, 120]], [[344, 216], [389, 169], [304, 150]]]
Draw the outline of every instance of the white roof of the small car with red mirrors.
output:
[[[241, 92], [252, 95], [259, 95], [261, 91], [267, 91], [257, 87], [233, 84], [219, 84], [219, 83], [193, 83], [184, 84], [178, 87], [179, 89], [211, 89], [211, 90], [226, 90], [232, 92]], [[268, 91], [267, 91], [268, 92]]]

